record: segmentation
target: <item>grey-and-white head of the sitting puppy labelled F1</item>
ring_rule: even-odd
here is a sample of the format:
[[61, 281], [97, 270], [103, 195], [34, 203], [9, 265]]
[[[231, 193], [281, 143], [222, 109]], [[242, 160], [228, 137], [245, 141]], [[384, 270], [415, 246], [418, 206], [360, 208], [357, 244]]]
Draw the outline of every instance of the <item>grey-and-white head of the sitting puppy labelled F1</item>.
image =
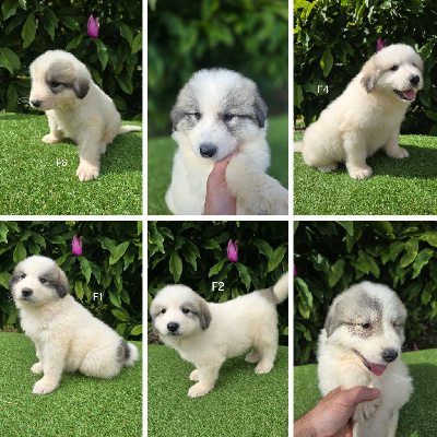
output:
[[66, 273], [46, 257], [34, 256], [19, 262], [9, 288], [19, 308], [38, 307], [64, 297], [69, 292]]

